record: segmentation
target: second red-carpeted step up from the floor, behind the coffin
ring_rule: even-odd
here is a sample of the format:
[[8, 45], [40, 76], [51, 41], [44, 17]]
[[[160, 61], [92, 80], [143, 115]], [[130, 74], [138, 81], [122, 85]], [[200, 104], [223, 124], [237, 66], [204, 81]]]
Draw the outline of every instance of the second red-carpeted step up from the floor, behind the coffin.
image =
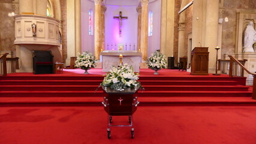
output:
[[[0, 91], [0, 97], [102, 97], [103, 91]], [[141, 97], [251, 97], [251, 91], [139, 91]]]

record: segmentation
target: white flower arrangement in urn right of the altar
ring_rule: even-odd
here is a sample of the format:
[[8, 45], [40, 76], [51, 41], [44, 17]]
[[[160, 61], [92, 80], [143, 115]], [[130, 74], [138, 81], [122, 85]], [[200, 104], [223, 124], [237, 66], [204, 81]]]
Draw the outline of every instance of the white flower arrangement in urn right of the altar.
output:
[[167, 67], [167, 59], [165, 55], [156, 50], [156, 52], [151, 53], [151, 56], [147, 59], [146, 64], [151, 70], [154, 70], [154, 74], [158, 74], [157, 71], [161, 68]]

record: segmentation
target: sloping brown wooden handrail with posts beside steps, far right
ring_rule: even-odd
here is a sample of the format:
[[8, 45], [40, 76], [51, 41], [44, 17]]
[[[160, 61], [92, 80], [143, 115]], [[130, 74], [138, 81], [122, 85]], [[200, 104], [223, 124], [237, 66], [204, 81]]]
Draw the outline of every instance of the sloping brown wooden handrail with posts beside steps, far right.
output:
[[252, 76], [254, 77], [253, 80], [253, 84], [252, 84], [252, 99], [256, 100], [256, 74], [255, 73], [251, 73], [250, 71], [248, 71], [244, 65], [242, 65], [239, 61], [237, 61], [236, 58], [234, 58], [233, 56], [229, 55], [228, 57], [230, 57], [230, 71], [229, 71], [229, 76], [233, 77], [233, 63], [236, 63], [238, 65], [240, 65], [240, 67], [242, 67], [243, 70], [246, 71], [246, 73], [248, 74], [252, 74]]

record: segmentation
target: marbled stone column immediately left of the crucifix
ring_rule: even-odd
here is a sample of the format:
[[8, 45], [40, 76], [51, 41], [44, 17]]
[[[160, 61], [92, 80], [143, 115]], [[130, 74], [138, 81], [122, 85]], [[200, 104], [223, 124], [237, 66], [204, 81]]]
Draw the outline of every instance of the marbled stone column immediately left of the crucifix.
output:
[[101, 40], [100, 40], [100, 28], [101, 28], [101, 14], [102, 14], [102, 0], [94, 0], [95, 2], [95, 19], [94, 19], [94, 56], [96, 59], [100, 59], [100, 49], [101, 49]]

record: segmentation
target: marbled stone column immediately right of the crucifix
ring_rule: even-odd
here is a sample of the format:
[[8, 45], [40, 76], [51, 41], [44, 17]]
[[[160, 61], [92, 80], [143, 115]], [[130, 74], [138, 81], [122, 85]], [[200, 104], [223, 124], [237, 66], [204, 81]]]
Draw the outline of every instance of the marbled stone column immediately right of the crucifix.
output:
[[141, 52], [142, 60], [147, 60], [148, 49], [148, 0], [141, 2]]

